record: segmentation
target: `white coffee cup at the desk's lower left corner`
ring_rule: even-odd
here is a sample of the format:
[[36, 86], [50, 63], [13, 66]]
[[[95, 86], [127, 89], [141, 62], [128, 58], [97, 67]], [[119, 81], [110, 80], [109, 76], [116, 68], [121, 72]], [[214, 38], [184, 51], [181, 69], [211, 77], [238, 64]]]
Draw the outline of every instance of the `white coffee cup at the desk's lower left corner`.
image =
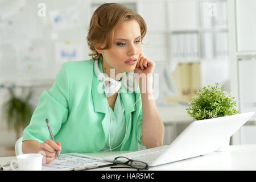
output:
[[10, 166], [13, 170], [16, 170], [14, 163], [18, 163], [19, 171], [41, 171], [42, 160], [42, 154], [22, 154], [16, 156], [16, 159], [11, 161]]

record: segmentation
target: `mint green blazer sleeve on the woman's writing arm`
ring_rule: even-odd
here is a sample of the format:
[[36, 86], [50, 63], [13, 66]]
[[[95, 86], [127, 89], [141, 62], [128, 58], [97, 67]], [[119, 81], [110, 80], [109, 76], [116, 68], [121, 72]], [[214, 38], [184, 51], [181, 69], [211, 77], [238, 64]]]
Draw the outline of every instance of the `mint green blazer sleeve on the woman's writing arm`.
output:
[[[61, 129], [68, 118], [69, 103], [69, 73], [68, 65], [64, 63], [57, 73], [52, 88], [43, 91], [38, 106], [32, 114], [30, 124], [23, 131], [24, 140], [36, 140], [43, 143], [50, 139], [46, 118], [51, 126], [53, 136]], [[56, 141], [57, 142], [57, 141]]]

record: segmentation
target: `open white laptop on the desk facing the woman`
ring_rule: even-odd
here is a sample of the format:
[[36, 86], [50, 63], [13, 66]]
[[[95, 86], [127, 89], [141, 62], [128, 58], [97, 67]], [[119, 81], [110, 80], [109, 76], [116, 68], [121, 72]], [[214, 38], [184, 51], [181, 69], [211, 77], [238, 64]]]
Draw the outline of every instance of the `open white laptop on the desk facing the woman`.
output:
[[117, 156], [125, 156], [129, 159], [141, 160], [146, 162], [148, 166], [153, 167], [209, 154], [217, 151], [223, 142], [232, 137], [254, 113], [252, 111], [194, 121], [168, 146], [108, 156], [103, 159], [113, 162]]

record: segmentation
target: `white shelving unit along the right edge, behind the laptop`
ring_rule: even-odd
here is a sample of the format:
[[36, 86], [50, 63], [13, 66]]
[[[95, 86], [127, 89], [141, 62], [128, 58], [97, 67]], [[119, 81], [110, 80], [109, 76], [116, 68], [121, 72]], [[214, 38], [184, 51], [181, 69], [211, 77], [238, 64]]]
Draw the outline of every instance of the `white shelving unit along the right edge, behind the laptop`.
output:
[[[253, 0], [228, 0], [230, 85], [240, 113], [256, 111], [256, 23]], [[233, 144], [256, 143], [256, 115], [233, 135]], [[246, 138], [250, 138], [247, 141]], [[248, 143], [249, 142], [249, 143]]]

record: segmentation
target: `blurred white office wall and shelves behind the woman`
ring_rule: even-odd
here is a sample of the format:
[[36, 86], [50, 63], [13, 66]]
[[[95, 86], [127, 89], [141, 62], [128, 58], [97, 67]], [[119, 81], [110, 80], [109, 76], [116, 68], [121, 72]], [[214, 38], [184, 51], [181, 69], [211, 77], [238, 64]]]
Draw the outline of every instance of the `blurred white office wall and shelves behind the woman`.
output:
[[[166, 128], [164, 144], [193, 121], [187, 103], [208, 84], [234, 92], [241, 112], [255, 110], [253, 0], [0, 0], [0, 156], [15, 155], [22, 137], [22, 129], [18, 135], [8, 129], [3, 108], [11, 97], [8, 88], [20, 98], [32, 90], [27, 102], [35, 109], [63, 63], [90, 59], [90, 17], [106, 2], [123, 3], [147, 23], [143, 51], [159, 73], [155, 101]], [[251, 119], [232, 142], [256, 143], [254, 133]]]

